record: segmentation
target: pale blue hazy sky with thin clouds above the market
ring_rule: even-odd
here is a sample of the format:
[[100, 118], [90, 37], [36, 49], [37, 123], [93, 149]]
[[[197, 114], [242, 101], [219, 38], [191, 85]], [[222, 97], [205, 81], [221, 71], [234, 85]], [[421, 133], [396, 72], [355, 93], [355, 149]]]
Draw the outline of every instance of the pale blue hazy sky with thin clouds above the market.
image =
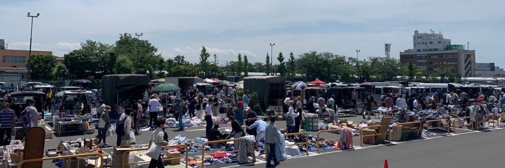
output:
[[27, 49], [30, 20], [33, 49], [55, 55], [86, 39], [114, 43], [121, 33], [143, 32], [165, 58], [185, 55], [198, 62], [201, 46], [220, 63], [246, 54], [264, 62], [274, 53], [330, 51], [360, 59], [412, 48], [412, 35], [442, 31], [453, 44], [475, 49], [477, 62], [504, 67], [503, 1], [5, 1], [0, 0], [0, 39], [10, 49]]

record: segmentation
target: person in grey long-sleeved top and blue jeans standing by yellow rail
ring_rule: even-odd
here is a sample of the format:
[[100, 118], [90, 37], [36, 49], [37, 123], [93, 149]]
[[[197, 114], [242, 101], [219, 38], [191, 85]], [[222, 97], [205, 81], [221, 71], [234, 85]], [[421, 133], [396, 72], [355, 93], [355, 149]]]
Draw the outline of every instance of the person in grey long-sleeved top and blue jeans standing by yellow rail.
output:
[[[275, 127], [275, 117], [270, 117], [270, 124], [267, 125], [265, 129], [265, 142], [268, 144], [268, 157], [267, 157], [267, 167], [273, 167], [279, 165], [280, 162], [277, 160], [277, 156], [275, 155], [275, 151], [277, 150], [276, 144], [279, 146], [282, 144], [281, 137], [279, 133], [277, 133], [277, 127]], [[274, 160], [274, 164], [270, 163], [271, 160]]]

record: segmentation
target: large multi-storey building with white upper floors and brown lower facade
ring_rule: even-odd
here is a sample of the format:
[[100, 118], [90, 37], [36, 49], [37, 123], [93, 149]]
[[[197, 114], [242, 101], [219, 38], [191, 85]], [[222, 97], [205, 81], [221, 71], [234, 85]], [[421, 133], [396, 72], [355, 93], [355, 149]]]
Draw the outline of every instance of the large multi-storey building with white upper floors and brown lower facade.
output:
[[400, 52], [400, 62], [412, 62], [417, 68], [436, 73], [441, 68], [452, 67], [463, 77], [475, 77], [475, 50], [465, 49], [465, 45], [451, 44], [441, 33], [419, 33], [413, 35], [413, 48]]

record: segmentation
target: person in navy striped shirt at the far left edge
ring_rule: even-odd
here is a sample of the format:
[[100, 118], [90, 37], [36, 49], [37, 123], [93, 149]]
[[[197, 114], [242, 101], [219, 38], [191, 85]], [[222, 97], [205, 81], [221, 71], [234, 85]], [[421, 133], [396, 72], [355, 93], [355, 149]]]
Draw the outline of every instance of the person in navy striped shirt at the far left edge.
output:
[[[16, 114], [14, 110], [9, 108], [9, 103], [2, 105], [4, 108], [0, 111], [0, 146], [9, 145], [12, 135], [12, 129], [14, 128], [14, 120], [16, 119]], [[7, 138], [4, 138], [6, 136]]]

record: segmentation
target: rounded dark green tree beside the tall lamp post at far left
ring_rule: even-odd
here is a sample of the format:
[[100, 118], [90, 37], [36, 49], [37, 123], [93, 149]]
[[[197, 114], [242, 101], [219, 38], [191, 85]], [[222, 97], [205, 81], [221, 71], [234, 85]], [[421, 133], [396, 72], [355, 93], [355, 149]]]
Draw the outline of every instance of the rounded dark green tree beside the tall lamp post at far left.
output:
[[[34, 54], [30, 57], [32, 80], [48, 80], [53, 78], [53, 68], [56, 66], [56, 56], [48, 54]], [[28, 65], [26, 65], [28, 67]]]

